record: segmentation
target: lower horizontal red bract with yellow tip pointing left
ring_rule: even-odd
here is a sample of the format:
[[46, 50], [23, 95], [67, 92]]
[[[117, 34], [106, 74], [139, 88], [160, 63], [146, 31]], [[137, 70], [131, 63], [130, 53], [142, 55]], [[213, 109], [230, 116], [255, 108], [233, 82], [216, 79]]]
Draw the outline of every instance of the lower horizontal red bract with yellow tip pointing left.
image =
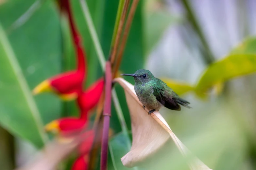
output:
[[74, 117], [60, 118], [46, 124], [44, 129], [46, 132], [52, 132], [61, 135], [72, 135], [80, 132], [87, 127], [86, 119], [78, 119]]

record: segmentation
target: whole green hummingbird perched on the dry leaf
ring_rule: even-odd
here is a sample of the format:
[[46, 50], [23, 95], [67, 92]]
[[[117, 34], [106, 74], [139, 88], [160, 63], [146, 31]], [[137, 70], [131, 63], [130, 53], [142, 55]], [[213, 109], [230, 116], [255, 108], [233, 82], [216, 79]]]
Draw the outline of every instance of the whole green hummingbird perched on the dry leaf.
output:
[[134, 74], [121, 74], [122, 76], [132, 76], [135, 81], [134, 90], [140, 102], [150, 109], [148, 114], [160, 108], [167, 107], [171, 110], [180, 110], [180, 105], [187, 108], [188, 101], [179, 97], [170, 87], [159, 78], [155, 78], [149, 70], [140, 69]]

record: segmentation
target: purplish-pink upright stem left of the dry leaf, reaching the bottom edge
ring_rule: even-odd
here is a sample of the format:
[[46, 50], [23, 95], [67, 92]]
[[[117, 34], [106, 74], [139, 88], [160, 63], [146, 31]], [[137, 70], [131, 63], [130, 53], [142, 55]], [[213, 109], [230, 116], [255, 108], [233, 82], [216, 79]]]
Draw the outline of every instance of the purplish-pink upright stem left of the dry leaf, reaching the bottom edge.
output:
[[111, 63], [106, 62], [105, 72], [105, 103], [103, 109], [103, 132], [101, 143], [101, 157], [100, 157], [100, 170], [107, 170], [108, 161], [108, 141], [109, 141], [109, 124], [111, 117], [111, 88], [112, 88], [112, 76], [111, 76]]

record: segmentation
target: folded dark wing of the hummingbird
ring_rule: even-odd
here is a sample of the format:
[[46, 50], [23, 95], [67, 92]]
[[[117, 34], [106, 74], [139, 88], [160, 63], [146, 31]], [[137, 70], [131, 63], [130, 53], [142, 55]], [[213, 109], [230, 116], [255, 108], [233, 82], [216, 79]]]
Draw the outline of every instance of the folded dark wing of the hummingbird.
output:
[[163, 83], [162, 80], [158, 79], [158, 82], [156, 82], [156, 84], [154, 86], [152, 86], [152, 89], [154, 90], [154, 92], [153, 92], [154, 96], [156, 96], [156, 99], [164, 107], [167, 107], [168, 109], [171, 109], [171, 110], [180, 110], [180, 106], [172, 98], [172, 96], [171, 95], [165, 95], [165, 86], [162, 83]]

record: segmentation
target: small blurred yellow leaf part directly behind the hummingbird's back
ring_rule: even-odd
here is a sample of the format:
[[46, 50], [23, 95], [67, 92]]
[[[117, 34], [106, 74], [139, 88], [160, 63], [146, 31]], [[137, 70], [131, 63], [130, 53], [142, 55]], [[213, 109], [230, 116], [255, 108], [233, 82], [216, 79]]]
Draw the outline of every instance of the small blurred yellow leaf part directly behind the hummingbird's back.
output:
[[192, 85], [185, 82], [179, 82], [168, 78], [162, 78], [162, 81], [165, 82], [167, 86], [171, 87], [178, 95], [194, 90]]

